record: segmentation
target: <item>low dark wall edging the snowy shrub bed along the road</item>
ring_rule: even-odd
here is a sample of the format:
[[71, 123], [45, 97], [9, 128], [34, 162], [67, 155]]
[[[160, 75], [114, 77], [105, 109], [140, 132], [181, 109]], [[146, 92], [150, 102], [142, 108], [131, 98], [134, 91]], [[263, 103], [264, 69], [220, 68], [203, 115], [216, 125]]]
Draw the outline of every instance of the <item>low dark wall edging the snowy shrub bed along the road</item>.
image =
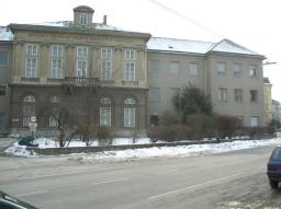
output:
[[[223, 140], [222, 142], [233, 142], [237, 139]], [[239, 139], [241, 140], [241, 139]], [[243, 140], [251, 140], [243, 139]], [[103, 151], [120, 151], [120, 150], [133, 150], [144, 148], [161, 148], [161, 147], [177, 147], [177, 146], [193, 146], [193, 144], [210, 144], [218, 143], [215, 140], [209, 141], [179, 141], [170, 143], [146, 143], [146, 144], [124, 144], [124, 146], [98, 146], [98, 147], [70, 147], [70, 148], [26, 148], [27, 151], [35, 152], [41, 155], [58, 155], [58, 154], [71, 154], [71, 153], [90, 153], [90, 152], [103, 152]]]

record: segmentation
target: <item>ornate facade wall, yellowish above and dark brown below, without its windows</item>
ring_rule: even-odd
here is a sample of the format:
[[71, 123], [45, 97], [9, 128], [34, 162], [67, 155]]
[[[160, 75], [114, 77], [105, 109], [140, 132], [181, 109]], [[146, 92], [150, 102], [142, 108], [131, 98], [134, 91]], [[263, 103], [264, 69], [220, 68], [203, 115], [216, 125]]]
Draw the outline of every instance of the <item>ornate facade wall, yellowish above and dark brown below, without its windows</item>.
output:
[[[48, 27], [34, 25], [10, 25], [14, 34], [14, 56], [11, 74], [11, 128], [24, 129], [24, 97], [35, 98], [35, 116], [38, 129], [49, 128], [46, 114], [42, 114], [50, 95], [58, 96], [72, 117], [80, 118], [77, 124], [100, 124], [102, 98], [110, 98], [111, 127], [116, 135], [144, 133], [147, 121], [147, 74], [146, 42], [149, 34], [112, 32], [79, 26]], [[37, 47], [36, 74], [27, 76], [27, 47]], [[63, 74], [52, 78], [52, 50], [63, 47]], [[78, 48], [87, 47], [88, 63], [86, 76], [77, 74]], [[112, 78], [102, 78], [102, 49], [111, 51]], [[126, 53], [133, 51], [132, 59]], [[134, 79], [126, 79], [126, 63], [135, 65]], [[90, 93], [89, 93], [90, 91]], [[93, 93], [94, 92], [94, 93]], [[126, 98], [135, 104], [124, 104]], [[132, 101], [131, 101], [132, 102]], [[124, 108], [135, 108], [135, 125], [124, 124]], [[32, 107], [33, 108], [33, 107]], [[27, 111], [26, 111], [27, 109]], [[25, 108], [29, 112], [29, 107]], [[75, 124], [75, 123], [74, 123]], [[25, 123], [26, 125], [26, 123]], [[71, 124], [70, 124], [71, 125]], [[69, 125], [69, 126], [70, 126]]]

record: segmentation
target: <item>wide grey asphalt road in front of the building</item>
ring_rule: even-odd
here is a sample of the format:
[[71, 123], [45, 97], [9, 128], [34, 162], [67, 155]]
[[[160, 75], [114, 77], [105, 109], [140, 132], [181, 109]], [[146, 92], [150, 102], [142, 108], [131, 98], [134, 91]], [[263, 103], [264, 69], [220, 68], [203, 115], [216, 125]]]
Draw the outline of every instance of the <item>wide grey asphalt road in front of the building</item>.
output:
[[281, 209], [272, 147], [194, 158], [0, 158], [0, 190], [38, 208]]

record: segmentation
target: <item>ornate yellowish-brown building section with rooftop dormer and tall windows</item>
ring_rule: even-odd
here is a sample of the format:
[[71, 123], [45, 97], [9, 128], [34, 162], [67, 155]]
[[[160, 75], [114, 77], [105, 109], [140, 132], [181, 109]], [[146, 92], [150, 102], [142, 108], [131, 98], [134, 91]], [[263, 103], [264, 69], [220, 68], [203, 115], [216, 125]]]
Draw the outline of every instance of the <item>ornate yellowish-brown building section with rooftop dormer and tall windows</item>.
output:
[[[115, 131], [146, 128], [146, 43], [150, 34], [92, 23], [93, 10], [74, 9], [74, 22], [11, 24], [11, 128], [56, 127], [50, 106], [77, 124], [111, 126]], [[70, 120], [69, 120], [70, 121]], [[72, 120], [74, 121], [74, 120]], [[70, 126], [71, 124], [68, 124]]]

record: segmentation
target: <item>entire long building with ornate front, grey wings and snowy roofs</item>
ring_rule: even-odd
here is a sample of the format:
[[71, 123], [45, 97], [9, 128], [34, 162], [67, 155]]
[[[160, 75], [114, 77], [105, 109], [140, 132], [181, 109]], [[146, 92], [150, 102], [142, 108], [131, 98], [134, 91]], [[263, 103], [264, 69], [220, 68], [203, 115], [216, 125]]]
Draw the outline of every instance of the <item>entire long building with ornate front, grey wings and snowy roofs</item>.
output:
[[38, 129], [49, 132], [58, 125], [50, 113], [59, 108], [70, 127], [93, 124], [116, 135], [145, 133], [173, 109], [172, 95], [189, 83], [211, 96], [215, 113], [237, 116], [244, 126], [265, 125], [263, 56], [228, 39], [123, 31], [108, 25], [106, 16], [93, 23], [93, 14], [82, 5], [74, 9], [74, 21], [3, 27], [10, 35], [0, 36], [1, 126], [29, 130], [36, 116]]

